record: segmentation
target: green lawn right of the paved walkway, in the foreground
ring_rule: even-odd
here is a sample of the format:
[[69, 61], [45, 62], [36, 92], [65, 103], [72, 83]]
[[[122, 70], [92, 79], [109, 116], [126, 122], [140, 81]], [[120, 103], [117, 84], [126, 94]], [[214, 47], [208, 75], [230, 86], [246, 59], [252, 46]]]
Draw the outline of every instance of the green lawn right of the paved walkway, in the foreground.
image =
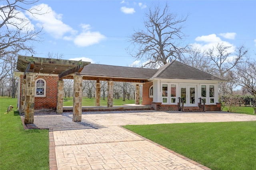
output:
[[256, 121], [124, 127], [212, 170], [256, 169]]

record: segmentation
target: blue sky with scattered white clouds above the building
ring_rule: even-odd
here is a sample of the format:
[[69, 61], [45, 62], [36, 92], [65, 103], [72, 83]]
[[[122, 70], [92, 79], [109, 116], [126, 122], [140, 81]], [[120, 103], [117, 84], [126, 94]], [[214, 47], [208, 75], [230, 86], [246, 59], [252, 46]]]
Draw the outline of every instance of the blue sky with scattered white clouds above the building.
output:
[[217, 43], [248, 48], [256, 59], [256, 1], [231, 0], [39, 0], [44, 15], [32, 17], [34, 27], [43, 27], [42, 42], [34, 43], [35, 57], [63, 54], [62, 59], [129, 66], [128, 36], [144, 29], [150, 6], [168, 4], [169, 11], [188, 18], [183, 23], [185, 43], [208, 49]]

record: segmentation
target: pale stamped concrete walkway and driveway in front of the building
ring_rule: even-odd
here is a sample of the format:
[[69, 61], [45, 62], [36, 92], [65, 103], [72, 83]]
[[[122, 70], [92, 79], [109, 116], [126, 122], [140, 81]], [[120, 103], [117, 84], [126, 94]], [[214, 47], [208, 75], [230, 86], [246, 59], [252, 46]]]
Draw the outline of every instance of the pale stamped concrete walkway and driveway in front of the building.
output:
[[34, 127], [50, 129], [50, 169], [208, 170], [120, 125], [224, 121], [256, 121], [256, 116], [224, 112], [84, 112], [82, 122], [75, 123], [72, 113], [35, 114]]

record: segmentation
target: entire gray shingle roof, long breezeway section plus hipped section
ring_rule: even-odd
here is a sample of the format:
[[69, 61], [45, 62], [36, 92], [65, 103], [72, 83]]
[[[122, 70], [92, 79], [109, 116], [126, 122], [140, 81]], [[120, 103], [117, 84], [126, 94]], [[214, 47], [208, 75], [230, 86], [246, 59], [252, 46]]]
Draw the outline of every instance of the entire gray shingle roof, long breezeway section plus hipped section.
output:
[[81, 74], [89, 76], [126, 77], [138, 79], [164, 78], [223, 80], [176, 60], [171, 63], [167, 63], [159, 69], [89, 64], [84, 67]]

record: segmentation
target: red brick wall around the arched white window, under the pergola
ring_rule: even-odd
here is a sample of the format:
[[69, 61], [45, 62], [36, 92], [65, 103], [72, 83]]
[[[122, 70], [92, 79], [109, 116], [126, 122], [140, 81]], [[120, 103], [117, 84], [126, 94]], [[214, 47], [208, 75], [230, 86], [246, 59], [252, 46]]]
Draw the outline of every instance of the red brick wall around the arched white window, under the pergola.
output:
[[[36, 80], [39, 78], [44, 79], [46, 81], [46, 97], [35, 97], [34, 109], [56, 110], [58, 76], [38, 75], [36, 77]], [[22, 75], [20, 75], [20, 108], [21, 108], [21, 86], [22, 86]]]

